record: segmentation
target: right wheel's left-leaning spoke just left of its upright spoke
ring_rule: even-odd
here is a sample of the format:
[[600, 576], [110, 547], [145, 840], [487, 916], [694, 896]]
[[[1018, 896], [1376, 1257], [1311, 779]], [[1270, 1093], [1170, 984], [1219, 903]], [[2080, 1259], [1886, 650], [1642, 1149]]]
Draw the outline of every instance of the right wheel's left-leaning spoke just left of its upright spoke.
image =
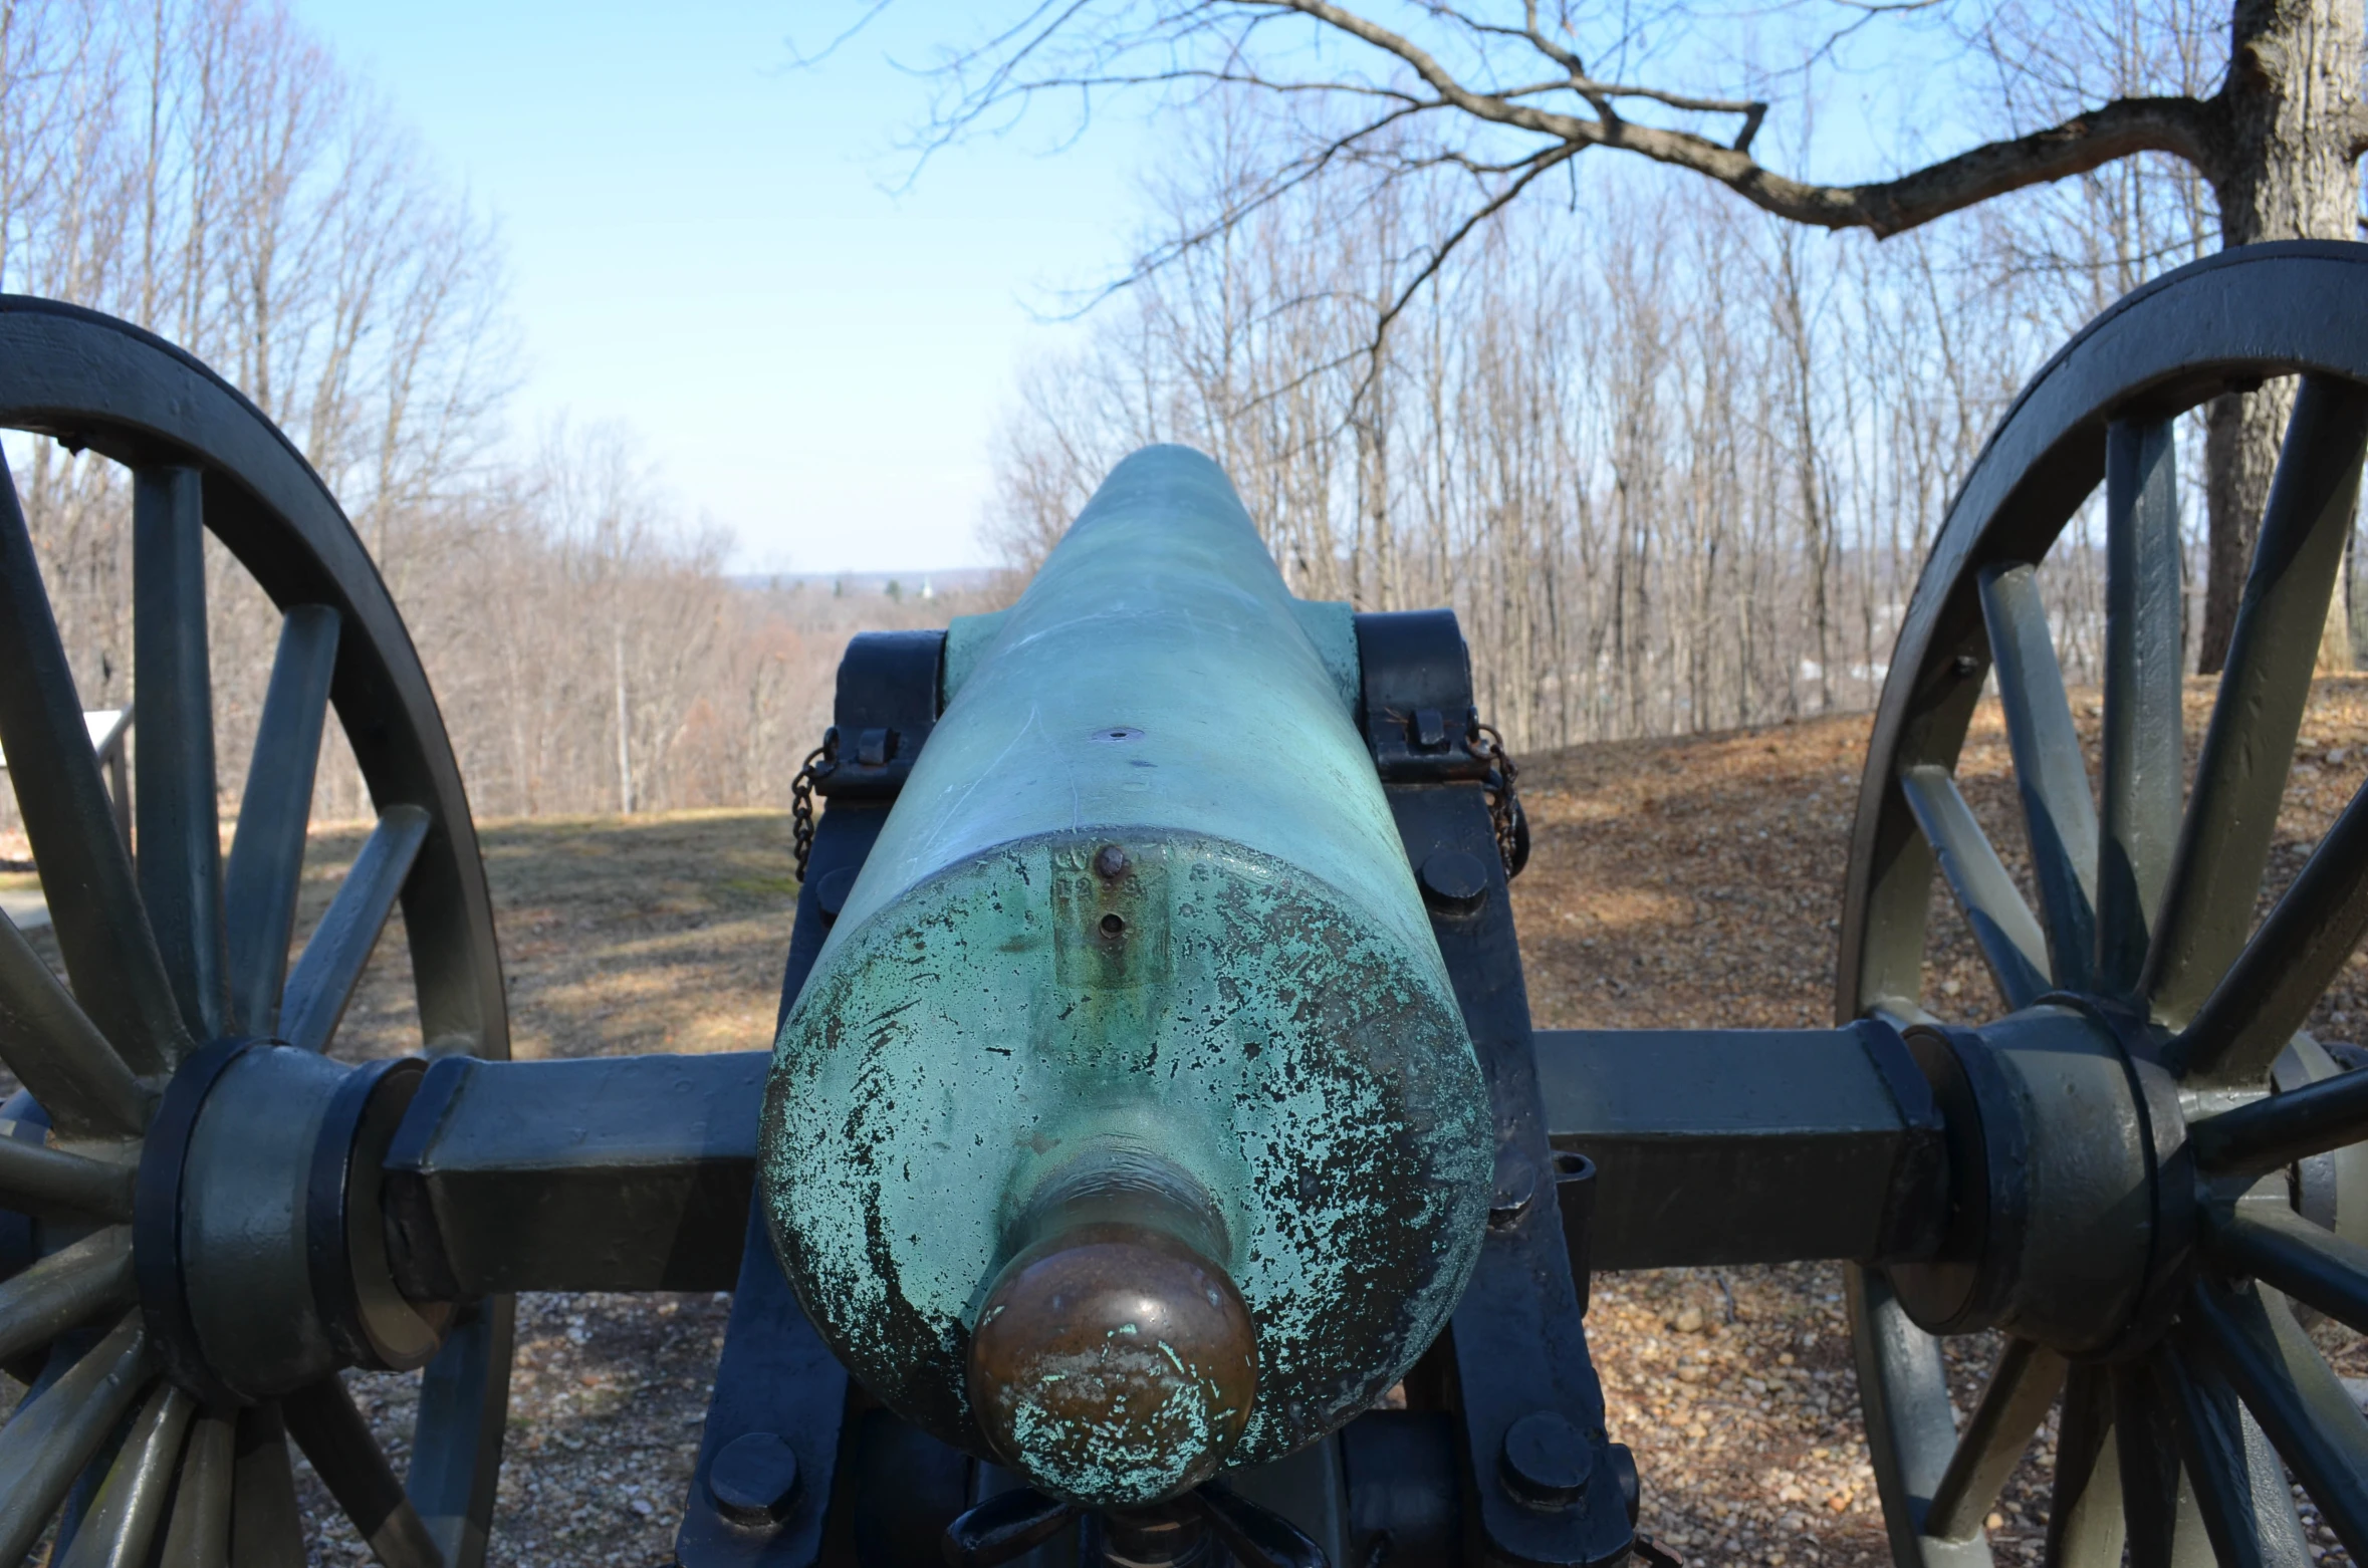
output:
[[2048, 976], [2084, 988], [2096, 955], [2096, 796], [2032, 568], [1982, 573], [1982, 616], [2048, 926]]

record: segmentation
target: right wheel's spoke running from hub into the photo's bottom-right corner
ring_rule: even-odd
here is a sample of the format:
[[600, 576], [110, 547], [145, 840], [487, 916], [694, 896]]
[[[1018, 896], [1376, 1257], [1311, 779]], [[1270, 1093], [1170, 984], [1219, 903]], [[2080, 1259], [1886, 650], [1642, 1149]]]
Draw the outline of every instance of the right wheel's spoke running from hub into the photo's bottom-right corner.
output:
[[2235, 1386], [2354, 1559], [2368, 1551], [2368, 1419], [2273, 1291], [2200, 1284], [2181, 1336]]

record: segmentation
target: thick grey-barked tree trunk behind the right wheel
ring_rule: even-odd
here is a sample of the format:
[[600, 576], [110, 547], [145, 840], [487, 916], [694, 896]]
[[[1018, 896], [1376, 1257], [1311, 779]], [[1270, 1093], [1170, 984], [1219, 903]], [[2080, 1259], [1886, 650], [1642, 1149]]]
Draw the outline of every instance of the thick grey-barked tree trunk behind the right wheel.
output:
[[[2221, 242], [2349, 239], [2359, 227], [2351, 128], [2361, 102], [2361, 0], [2238, 0], [2231, 12], [2224, 140], [2212, 171]], [[2228, 661], [2245, 568], [2295, 410], [2273, 381], [2214, 398], [2207, 415], [2209, 578], [2198, 668]], [[2321, 668], [2351, 668], [2351, 606], [2328, 604]]]

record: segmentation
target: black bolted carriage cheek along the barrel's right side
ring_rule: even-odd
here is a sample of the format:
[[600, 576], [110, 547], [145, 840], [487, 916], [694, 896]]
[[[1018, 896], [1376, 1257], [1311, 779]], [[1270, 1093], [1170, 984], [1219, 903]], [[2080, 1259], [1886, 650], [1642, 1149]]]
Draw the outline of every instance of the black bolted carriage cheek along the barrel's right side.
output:
[[[1475, 1547], [1468, 1556], [1553, 1568], [1613, 1563], [1634, 1542], [1636, 1466], [1606, 1433], [1603, 1386], [1587, 1355], [1584, 1296], [1558, 1206], [1563, 1172], [1546, 1144], [1537, 1087], [1530, 992], [1478, 784], [1485, 765], [1466, 772], [1480, 758], [1463, 751], [1468, 763], [1459, 763], [1454, 748], [1433, 748], [1426, 727], [1428, 713], [1471, 713], [1471, 656], [1452, 611], [1357, 616], [1357, 651], [1364, 734], [1497, 1116], [1489, 1232], [1449, 1324], [1463, 1521]], [[1577, 1170], [1568, 1175], [1579, 1180]]]

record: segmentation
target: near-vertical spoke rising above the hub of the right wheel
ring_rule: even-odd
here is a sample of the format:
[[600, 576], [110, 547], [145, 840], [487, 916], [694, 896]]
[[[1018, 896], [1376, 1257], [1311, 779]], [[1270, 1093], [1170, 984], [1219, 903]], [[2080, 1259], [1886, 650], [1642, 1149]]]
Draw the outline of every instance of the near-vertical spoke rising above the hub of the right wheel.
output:
[[2179, 838], [2186, 609], [2179, 448], [2169, 419], [2105, 429], [2105, 820], [2098, 843], [2098, 983], [2129, 995]]

